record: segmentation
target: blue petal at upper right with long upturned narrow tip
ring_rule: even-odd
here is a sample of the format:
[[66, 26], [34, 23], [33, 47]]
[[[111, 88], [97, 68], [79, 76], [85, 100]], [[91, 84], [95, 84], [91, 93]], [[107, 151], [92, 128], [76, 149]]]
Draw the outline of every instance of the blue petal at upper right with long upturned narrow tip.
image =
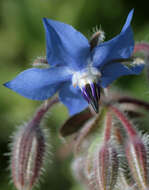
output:
[[133, 32], [130, 26], [132, 16], [133, 10], [130, 11], [121, 33], [94, 49], [93, 65], [95, 67], [101, 68], [111, 60], [125, 59], [132, 55], [134, 49]]

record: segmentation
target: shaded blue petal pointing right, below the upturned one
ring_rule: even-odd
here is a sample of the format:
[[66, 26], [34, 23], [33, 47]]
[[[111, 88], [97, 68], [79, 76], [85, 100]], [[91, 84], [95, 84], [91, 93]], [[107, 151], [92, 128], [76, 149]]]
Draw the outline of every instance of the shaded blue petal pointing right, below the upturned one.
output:
[[117, 78], [124, 75], [138, 75], [143, 70], [144, 64], [136, 65], [131, 68], [122, 65], [121, 63], [111, 63], [107, 64], [103, 67], [101, 71], [101, 86], [106, 88], [109, 84], [111, 84]]

